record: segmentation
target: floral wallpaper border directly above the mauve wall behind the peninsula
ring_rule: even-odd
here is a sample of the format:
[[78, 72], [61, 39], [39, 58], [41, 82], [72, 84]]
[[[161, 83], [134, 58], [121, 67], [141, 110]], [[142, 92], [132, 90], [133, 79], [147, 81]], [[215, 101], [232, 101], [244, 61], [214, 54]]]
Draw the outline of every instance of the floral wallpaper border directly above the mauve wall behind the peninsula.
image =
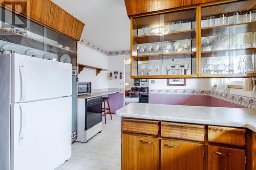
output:
[[213, 91], [213, 90], [179, 90], [179, 89], [150, 89], [152, 94], [191, 94], [191, 95], [209, 95], [218, 99], [222, 99], [228, 102], [236, 103], [246, 107], [256, 109], [256, 99], [247, 96], [241, 96], [236, 94], [229, 94], [225, 92]]

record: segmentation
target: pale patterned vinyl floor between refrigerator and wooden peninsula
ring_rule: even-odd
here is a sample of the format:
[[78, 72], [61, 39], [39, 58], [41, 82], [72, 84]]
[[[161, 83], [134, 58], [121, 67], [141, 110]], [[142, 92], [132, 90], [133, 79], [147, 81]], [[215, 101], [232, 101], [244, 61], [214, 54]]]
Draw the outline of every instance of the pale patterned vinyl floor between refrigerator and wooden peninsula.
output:
[[[103, 117], [102, 117], [103, 118]], [[87, 143], [72, 144], [72, 157], [56, 170], [121, 169], [121, 117], [107, 115], [102, 131]]]

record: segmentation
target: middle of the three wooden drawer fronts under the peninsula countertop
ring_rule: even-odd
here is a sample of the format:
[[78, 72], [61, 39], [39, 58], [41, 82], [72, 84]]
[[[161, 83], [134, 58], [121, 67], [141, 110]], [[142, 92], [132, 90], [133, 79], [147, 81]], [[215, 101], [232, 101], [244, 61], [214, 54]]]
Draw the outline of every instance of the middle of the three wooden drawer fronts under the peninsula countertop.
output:
[[204, 125], [161, 122], [161, 136], [177, 139], [204, 141]]

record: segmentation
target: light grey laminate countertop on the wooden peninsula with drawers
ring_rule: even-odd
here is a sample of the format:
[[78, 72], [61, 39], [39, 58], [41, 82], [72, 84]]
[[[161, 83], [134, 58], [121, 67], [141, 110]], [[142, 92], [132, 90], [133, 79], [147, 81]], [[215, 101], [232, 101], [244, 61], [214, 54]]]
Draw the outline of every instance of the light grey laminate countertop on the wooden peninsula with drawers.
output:
[[130, 103], [116, 114], [168, 122], [243, 127], [256, 132], [256, 109]]

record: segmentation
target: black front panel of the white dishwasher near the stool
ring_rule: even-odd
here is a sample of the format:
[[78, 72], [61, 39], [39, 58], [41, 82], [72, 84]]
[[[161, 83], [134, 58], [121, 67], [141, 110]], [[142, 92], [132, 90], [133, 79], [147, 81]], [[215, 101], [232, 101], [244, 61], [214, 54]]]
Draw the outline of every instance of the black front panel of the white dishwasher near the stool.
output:
[[102, 97], [86, 99], [86, 126], [92, 128], [102, 121]]

